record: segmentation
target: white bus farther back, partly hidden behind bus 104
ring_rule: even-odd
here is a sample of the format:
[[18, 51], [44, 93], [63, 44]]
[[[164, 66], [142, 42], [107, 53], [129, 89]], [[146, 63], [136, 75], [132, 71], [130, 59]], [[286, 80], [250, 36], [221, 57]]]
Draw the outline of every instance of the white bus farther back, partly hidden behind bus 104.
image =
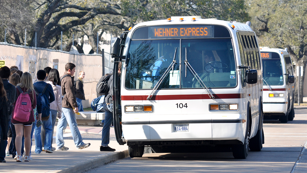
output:
[[294, 76], [289, 53], [284, 49], [260, 48], [263, 68], [263, 115], [282, 123], [294, 118]]

